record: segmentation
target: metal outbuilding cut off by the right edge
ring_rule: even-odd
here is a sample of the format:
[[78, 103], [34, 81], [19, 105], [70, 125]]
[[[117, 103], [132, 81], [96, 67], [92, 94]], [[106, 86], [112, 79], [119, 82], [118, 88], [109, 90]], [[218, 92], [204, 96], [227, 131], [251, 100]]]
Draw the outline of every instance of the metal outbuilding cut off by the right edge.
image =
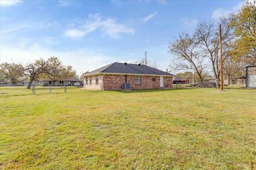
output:
[[246, 87], [256, 88], [256, 64], [246, 66], [245, 70]]

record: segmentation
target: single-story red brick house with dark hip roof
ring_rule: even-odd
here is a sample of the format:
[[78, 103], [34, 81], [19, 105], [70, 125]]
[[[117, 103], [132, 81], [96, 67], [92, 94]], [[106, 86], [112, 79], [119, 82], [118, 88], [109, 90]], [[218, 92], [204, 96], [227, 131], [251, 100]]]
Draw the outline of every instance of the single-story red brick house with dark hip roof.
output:
[[173, 76], [146, 65], [117, 62], [83, 74], [87, 90], [172, 88]]

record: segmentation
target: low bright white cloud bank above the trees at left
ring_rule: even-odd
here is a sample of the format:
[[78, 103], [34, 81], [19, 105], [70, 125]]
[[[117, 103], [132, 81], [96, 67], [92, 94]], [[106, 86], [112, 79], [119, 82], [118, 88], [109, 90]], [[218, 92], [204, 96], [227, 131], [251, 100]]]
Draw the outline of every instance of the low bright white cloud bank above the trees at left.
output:
[[60, 58], [63, 64], [71, 65], [77, 71], [78, 75], [98, 69], [101, 66], [118, 61], [116, 57], [109, 57], [104, 54], [90, 52], [87, 49], [78, 49], [74, 51], [53, 51], [42, 48], [37, 44], [30, 46], [30, 48], [15, 48], [10, 46], [1, 46], [1, 62], [16, 62], [26, 64], [33, 62], [39, 58], [45, 60], [51, 56]]

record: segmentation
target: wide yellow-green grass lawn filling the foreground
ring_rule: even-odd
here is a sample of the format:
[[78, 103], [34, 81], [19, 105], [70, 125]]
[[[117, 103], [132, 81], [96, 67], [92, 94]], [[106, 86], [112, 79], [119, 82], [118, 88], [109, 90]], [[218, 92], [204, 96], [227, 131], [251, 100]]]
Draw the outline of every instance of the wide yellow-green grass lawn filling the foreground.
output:
[[0, 89], [0, 169], [256, 169], [256, 90], [72, 90]]

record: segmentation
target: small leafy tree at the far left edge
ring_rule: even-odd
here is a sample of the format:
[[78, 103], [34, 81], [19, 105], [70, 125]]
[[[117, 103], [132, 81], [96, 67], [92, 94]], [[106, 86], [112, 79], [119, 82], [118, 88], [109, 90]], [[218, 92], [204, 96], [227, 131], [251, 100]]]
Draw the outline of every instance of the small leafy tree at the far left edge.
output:
[[[4, 70], [8, 70], [8, 72], [5, 72]], [[16, 64], [16, 63], [2, 63], [0, 64], [0, 79], [4, 81], [9, 81], [10, 76], [10, 83], [15, 83], [17, 81], [23, 80], [23, 66], [22, 64]]]

